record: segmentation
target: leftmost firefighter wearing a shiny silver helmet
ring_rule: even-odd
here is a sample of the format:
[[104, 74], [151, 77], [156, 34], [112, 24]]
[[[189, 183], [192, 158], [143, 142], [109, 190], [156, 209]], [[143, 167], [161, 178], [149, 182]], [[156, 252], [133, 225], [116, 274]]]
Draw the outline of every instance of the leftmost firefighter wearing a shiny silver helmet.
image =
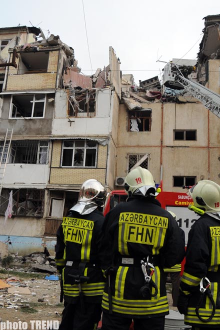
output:
[[55, 261], [64, 297], [59, 330], [94, 330], [100, 320], [105, 279], [99, 251], [106, 194], [99, 181], [86, 180], [57, 230]]

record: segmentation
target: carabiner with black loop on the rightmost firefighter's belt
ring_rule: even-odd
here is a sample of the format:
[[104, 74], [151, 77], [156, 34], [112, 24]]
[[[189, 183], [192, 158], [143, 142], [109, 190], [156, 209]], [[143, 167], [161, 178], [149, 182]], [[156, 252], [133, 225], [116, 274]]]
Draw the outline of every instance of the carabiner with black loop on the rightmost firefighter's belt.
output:
[[[214, 313], [215, 313], [215, 303], [214, 303], [214, 300], [213, 300], [213, 297], [212, 297], [212, 294], [211, 294], [211, 290], [209, 289], [210, 281], [207, 277], [203, 277], [200, 280], [199, 285], [200, 285], [199, 291], [201, 292], [201, 297], [200, 297], [200, 300], [199, 300], [197, 306], [195, 307], [195, 313], [196, 313], [196, 316], [200, 319], [200, 321], [209, 322], [212, 319], [212, 317], [214, 316]], [[208, 296], [208, 298], [211, 301], [212, 312], [211, 312], [211, 315], [208, 318], [203, 318], [199, 315], [198, 310], [200, 308], [200, 305], [201, 305], [203, 299], [205, 299], [206, 296]]]

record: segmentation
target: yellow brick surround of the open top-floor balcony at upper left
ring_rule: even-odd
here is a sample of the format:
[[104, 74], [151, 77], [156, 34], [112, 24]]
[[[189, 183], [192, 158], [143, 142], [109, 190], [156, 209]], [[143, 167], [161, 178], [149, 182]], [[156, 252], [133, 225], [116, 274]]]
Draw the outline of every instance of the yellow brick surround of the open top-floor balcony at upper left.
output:
[[[47, 72], [17, 74], [18, 67], [9, 66], [6, 90], [41, 90], [56, 86], [56, 71], [59, 51], [50, 51]], [[18, 63], [16, 58], [16, 63]]]

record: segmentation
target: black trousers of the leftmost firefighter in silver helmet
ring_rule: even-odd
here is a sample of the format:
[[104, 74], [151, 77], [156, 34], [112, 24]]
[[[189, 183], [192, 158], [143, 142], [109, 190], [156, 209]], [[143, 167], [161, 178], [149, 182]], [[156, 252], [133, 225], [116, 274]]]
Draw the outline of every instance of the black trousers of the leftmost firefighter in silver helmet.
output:
[[85, 313], [81, 305], [64, 302], [59, 330], [95, 330], [101, 318], [101, 303], [84, 301]]

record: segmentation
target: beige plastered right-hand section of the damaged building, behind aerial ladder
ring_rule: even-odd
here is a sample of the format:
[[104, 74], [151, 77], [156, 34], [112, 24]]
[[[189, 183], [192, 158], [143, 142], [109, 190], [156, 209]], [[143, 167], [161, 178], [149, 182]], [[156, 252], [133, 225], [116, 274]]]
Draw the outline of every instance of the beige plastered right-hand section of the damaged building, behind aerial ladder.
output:
[[[220, 15], [204, 17], [197, 60], [172, 60], [185, 76], [189, 74], [193, 81], [218, 96], [219, 27]], [[219, 117], [182, 86], [166, 87], [162, 76], [139, 81], [139, 86], [135, 86], [131, 75], [122, 75], [121, 90], [117, 189], [123, 188], [126, 174], [136, 165], [149, 169], [156, 183], [162, 183], [163, 191], [184, 192], [182, 185], [193, 185], [201, 179], [220, 184]], [[206, 94], [200, 93], [202, 96], [205, 98]]]

